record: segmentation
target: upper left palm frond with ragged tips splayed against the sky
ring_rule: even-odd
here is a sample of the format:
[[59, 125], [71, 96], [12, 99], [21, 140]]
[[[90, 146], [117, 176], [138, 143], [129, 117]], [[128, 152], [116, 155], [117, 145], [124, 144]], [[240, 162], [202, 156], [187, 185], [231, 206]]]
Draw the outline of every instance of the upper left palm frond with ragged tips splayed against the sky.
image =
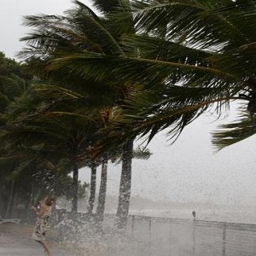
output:
[[[34, 31], [22, 41], [31, 47], [21, 54], [25, 57], [31, 55], [48, 55], [69, 50], [96, 50], [97, 52], [123, 54], [119, 44], [102, 23], [102, 19], [86, 7], [76, 2], [78, 9], [67, 11], [66, 16], [38, 15], [26, 16], [24, 24], [34, 27]], [[34, 47], [34, 48], [33, 48]], [[39, 51], [39, 54], [38, 54]], [[35, 56], [37, 56], [35, 55]]]

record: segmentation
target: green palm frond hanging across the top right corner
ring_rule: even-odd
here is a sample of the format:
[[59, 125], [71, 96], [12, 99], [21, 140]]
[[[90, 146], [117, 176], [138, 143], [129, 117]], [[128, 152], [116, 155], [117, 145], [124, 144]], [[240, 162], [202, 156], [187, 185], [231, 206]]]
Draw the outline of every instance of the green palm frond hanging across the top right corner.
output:
[[[137, 21], [137, 29], [140, 31], [149, 32], [165, 26], [168, 40], [183, 37], [196, 48], [212, 49], [213, 45], [224, 46], [230, 42], [230, 38], [234, 44], [253, 42], [250, 31], [252, 32], [255, 20], [252, 16], [247, 19], [247, 13], [255, 9], [254, 1], [236, 2], [137, 1], [132, 4], [132, 10]], [[247, 25], [240, 22], [246, 22]], [[242, 32], [241, 26], [246, 28], [245, 32]]]

